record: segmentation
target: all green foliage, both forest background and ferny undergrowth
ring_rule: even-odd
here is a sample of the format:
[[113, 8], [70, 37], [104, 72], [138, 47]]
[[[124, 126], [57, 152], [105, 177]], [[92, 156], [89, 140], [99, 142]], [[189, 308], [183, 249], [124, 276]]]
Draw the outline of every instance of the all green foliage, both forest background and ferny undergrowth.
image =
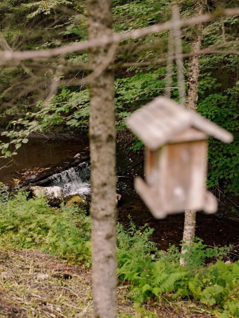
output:
[[[236, 2], [220, 4], [231, 8]], [[191, 1], [181, 1], [181, 17], [192, 16], [192, 7]], [[220, 9], [218, 3], [208, 1], [207, 10], [215, 9]], [[113, 0], [113, 28], [119, 33], [147, 27], [169, 20], [169, 13], [170, 2], [165, 0]], [[5, 0], [0, 2], [0, 47], [48, 50], [75, 44], [87, 39], [86, 21], [84, 0]], [[235, 137], [229, 145], [209, 140], [207, 186], [235, 195], [239, 194], [239, 69], [238, 57], [231, 52], [238, 51], [238, 27], [236, 16], [218, 17], [205, 24], [202, 48], [222, 49], [223, 53], [201, 56], [198, 92], [198, 112]], [[183, 51], [187, 53], [193, 30], [185, 27], [182, 31]], [[121, 41], [116, 48], [115, 118], [122, 136], [129, 134], [125, 127], [127, 116], [165, 91], [165, 61], [148, 66], [139, 63], [164, 59], [168, 36], [168, 31], [150, 34]], [[225, 54], [225, 49], [231, 51]], [[88, 132], [90, 97], [84, 85], [88, 71], [77, 68], [87, 62], [87, 52], [74, 52], [1, 68], [0, 126], [7, 130], [2, 135], [11, 138], [0, 144], [3, 157], [15, 156], [35, 131]], [[184, 68], [186, 77], [187, 59]], [[51, 95], [53, 81], [59, 85]], [[175, 65], [171, 98], [179, 100]], [[135, 136], [127, 140], [130, 150], [142, 150], [142, 142]], [[9, 150], [10, 144], [15, 145], [15, 150]], [[74, 204], [51, 208], [44, 199], [28, 199], [23, 191], [10, 197], [3, 185], [0, 196], [1, 245], [35, 248], [68, 263], [91, 266], [91, 218], [83, 209]], [[120, 224], [117, 227], [118, 277], [129, 283], [129, 296], [134, 302], [192, 299], [215, 316], [239, 317], [239, 262], [224, 263], [228, 247], [212, 248], [195, 239], [190, 257], [184, 254], [186, 266], [180, 266], [179, 249], [170, 246], [167, 252], [158, 250], [150, 240], [152, 232], [147, 225], [137, 229], [132, 222], [127, 230]]]

